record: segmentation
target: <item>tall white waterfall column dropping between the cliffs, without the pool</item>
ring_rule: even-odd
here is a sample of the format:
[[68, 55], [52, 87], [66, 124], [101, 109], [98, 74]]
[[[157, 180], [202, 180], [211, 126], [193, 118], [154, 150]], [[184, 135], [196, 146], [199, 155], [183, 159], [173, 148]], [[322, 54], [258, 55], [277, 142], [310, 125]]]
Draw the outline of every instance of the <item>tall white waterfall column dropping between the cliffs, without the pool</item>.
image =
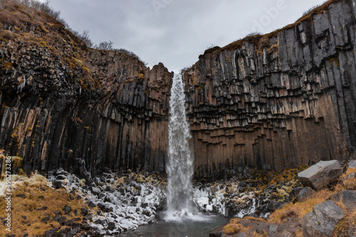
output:
[[189, 148], [189, 124], [185, 113], [182, 75], [173, 79], [169, 100], [167, 218], [179, 220], [192, 216], [192, 176], [194, 157]]

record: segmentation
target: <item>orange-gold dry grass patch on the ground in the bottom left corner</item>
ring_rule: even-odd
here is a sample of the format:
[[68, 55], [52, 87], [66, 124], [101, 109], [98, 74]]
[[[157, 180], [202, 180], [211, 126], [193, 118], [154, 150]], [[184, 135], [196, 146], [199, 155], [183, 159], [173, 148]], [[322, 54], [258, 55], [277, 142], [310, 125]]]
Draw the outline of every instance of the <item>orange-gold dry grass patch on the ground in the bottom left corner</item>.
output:
[[[16, 236], [23, 236], [25, 233], [28, 233], [28, 236], [44, 235], [48, 229], [60, 227], [58, 222], [53, 220], [56, 211], [60, 211], [64, 216], [63, 208], [66, 205], [70, 206], [72, 211], [66, 215], [66, 218], [71, 219], [75, 217], [73, 214], [75, 209], [80, 213], [82, 207], [88, 208], [82, 200], [70, 200], [70, 194], [65, 189], [48, 187], [48, 180], [42, 175], [34, 174], [31, 179], [14, 177], [14, 180], [19, 179], [24, 181], [14, 182], [12, 187], [11, 234]], [[24, 198], [21, 195], [24, 195]], [[6, 216], [6, 214], [6, 202], [4, 198], [0, 198], [0, 216]], [[46, 217], [49, 217], [49, 221], [41, 221]], [[0, 229], [0, 236], [5, 236], [7, 233], [9, 232], [5, 228]]]

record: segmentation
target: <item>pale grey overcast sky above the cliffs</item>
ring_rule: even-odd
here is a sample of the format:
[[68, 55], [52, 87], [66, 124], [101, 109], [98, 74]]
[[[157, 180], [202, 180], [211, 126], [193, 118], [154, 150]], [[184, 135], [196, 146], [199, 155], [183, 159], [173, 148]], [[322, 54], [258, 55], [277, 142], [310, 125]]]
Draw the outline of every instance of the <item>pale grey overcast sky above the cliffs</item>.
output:
[[[41, 0], [42, 1], [42, 0]], [[43, 0], [44, 1], [44, 0]], [[220, 47], [247, 33], [271, 32], [293, 23], [325, 0], [51, 0], [75, 31], [88, 30], [93, 43], [137, 54], [152, 68], [158, 62], [178, 72], [211, 45]]]

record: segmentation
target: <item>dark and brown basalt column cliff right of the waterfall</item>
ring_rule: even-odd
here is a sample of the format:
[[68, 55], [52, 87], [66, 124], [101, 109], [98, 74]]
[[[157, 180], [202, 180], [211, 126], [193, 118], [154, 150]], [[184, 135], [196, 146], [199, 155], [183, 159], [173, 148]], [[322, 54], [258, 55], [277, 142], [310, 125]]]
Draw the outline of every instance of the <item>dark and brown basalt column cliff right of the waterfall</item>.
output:
[[276, 32], [206, 50], [184, 72], [197, 176], [348, 158], [355, 12], [355, 1], [329, 1]]

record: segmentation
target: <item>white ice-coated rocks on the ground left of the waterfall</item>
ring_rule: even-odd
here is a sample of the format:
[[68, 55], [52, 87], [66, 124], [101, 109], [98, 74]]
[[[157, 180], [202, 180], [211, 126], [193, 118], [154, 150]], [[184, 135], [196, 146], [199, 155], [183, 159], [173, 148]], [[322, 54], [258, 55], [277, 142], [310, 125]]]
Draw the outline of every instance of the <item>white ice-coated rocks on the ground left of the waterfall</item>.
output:
[[[93, 221], [100, 219], [102, 224], [89, 223], [90, 226], [95, 226], [100, 230], [107, 230], [108, 223], [115, 223], [114, 231], [132, 230], [140, 225], [147, 225], [150, 222], [155, 221], [155, 210], [160, 203], [163, 202], [165, 195], [164, 189], [159, 187], [153, 187], [149, 182], [137, 183], [135, 180], [131, 180], [129, 185], [123, 184], [120, 187], [115, 187], [111, 184], [107, 184], [112, 192], [106, 191], [103, 187], [98, 186], [101, 190], [100, 197], [92, 192], [80, 187], [80, 179], [75, 175], [71, 175], [68, 172], [64, 172], [66, 176], [65, 188], [68, 192], [75, 190], [81, 193], [82, 197], [88, 199], [98, 205], [98, 203], [104, 204], [108, 208], [112, 208], [112, 212], [93, 215]], [[49, 172], [48, 180], [56, 180], [58, 171]], [[93, 188], [92, 188], [93, 189]], [[122, 190], [124, 192], [122, 192]], [[86, 193], [86, 194], [85, 194]], [[135, 200], [136, 202], [132, 202]], [[142, 209], [142, 204], [145, 204], [145, 209]], [[103, 231], [105, 233], [105, 231]]]

